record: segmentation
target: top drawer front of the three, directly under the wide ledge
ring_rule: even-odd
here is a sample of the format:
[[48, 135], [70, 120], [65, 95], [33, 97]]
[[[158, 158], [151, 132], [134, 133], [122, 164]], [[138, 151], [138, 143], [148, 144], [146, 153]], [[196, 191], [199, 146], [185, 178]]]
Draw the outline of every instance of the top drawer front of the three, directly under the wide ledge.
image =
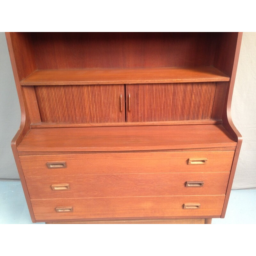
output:
[[234, 151], [136, 152], [20, 156], [28, 177], [48, 175], [229, 172]]

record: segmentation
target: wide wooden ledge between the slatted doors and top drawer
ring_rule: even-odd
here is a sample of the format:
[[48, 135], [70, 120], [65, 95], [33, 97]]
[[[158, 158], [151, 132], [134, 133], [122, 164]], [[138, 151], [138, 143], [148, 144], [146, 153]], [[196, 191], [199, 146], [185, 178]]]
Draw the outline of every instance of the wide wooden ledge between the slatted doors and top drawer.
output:
[[221, 124], [31, 129], [20, 152], [134, 151], [234, 147]]

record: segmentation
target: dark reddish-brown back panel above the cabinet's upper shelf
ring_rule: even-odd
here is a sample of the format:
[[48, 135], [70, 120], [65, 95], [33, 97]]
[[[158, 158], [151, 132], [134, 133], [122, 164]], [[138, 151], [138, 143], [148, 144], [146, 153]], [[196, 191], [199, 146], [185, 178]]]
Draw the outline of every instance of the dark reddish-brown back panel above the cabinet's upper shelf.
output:
[[37, 69], [213, 66], [221, 33], [31, 33]]

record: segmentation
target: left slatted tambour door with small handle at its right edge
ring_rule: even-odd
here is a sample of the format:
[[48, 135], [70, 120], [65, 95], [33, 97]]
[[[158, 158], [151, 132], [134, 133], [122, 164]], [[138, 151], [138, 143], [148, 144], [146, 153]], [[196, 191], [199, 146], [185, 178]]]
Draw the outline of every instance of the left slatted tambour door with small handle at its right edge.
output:
[[44, 123], [125, 122], [124, 85], [35, 86], [35, 91]]

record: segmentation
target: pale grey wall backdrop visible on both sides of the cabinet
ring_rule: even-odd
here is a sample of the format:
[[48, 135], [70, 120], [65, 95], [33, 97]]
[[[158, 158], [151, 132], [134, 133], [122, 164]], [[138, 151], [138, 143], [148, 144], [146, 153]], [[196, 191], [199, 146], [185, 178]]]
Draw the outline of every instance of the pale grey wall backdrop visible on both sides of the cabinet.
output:
[[[20, 126], [20, 105], [5, 34], [0, 32], [0, 179], [18, 179], [11, 140]], [[232, 189], [256, 188], [256, 33], [244, 33], [231, 106], [243, 136]]]

